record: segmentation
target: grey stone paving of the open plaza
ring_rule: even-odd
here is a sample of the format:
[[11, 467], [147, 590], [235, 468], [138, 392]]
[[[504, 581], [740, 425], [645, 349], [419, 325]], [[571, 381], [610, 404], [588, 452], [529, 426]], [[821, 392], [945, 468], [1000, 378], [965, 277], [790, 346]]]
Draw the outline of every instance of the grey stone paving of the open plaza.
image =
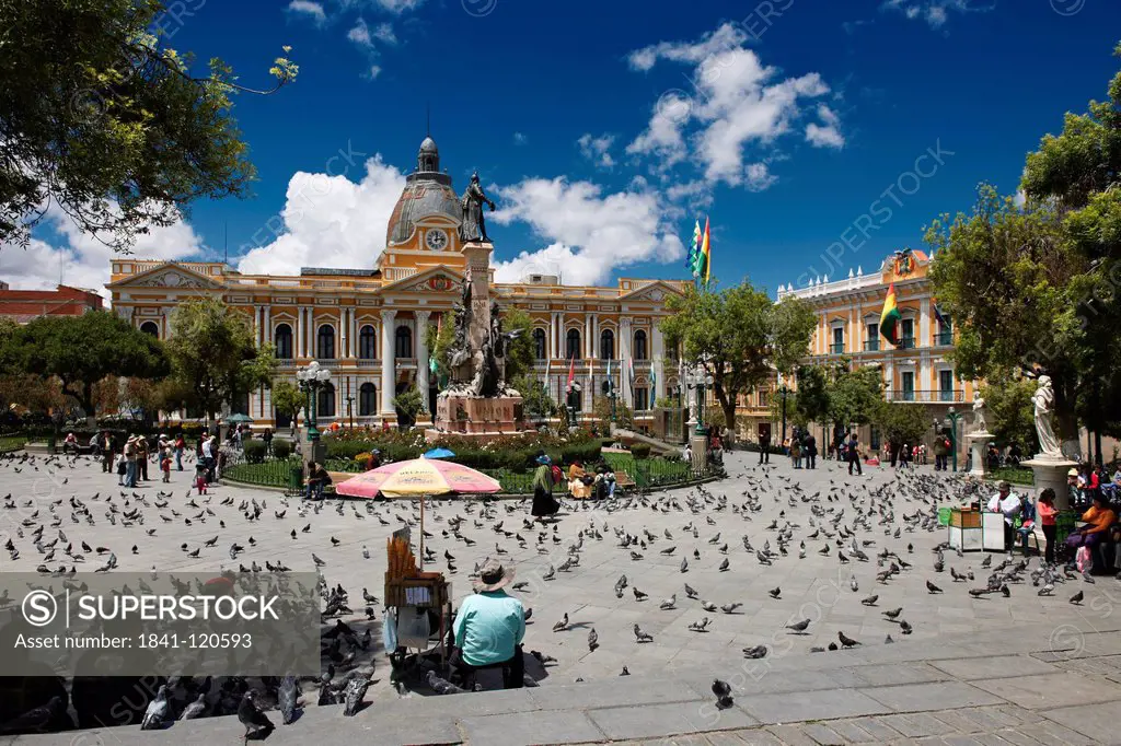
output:
[[[1054, 596], [1039, 597], [1025, 574], [1023, 581], [1010, 585], [1008, 597], [995, 593], [975, 598], [967, 590], [985, 586], [991, 570], [981, 562], [986, 556], [958, 558], [947, 551], [944, 571], [936, 572], [932, 552], [946, 539], [945, 529], [934, 525], [936, 505], [948, 504], [961, 483], [929, 467], [909, 473], [865, 467], [862, 477], [849, 477], [842, 465], [826, 460], [816, 470], [795, 470], [787, 459], [775, 458], [765, 469], [751, 454], [725, 458], [726, 479], [611, 505], [568, 502], [555, 528], [544, 532], [524, 525], [528, 503], [430, 504], [425, 528], [434, 537], [426, 545], [438, 559], [426, 569], [447, 572], [445, 551], [454, 556], [456, 571], [450, 579], [457, 599], [471, 593], [469, 576], [484, 557], [500, 554], [517, 567], [518, 580], [527, 586], [513, 594], [532, 609], [525, 647], [556, 659], [544, 671], [530, 666], [540, 687], [402, 697], [390, 686], [380, 650], [379, 605], [373, 624], [376, 683], [367, 696], [372, 705], [345, 721], [341, 708], [313, 705], [304, 718], [270, 736], [270, 743], [308, 743], [321, 737], [323, 728], [339, 738], [378, 736], [378, 743], [583, 743], [667, 736], [665, 743], [698, 744], [1121, 739], [1101, 715], [1112, 712], [1115, 719], [1117, 706], [1096, 705], [1121, 700], [1115, 683], [1121, 681], [1121, 642], [1109, 634], [1121, 628], [1113, 617], [1121, 584], [1110, 578], [1095, 584], [1069, 580]], [[62, 500], [54, 511], [68, 539], [113, 549], [121, 571], [237, 570], [266, 560], [312, 571], [315, 552], [325, 561], [321, 571], [327, 582], [342, 584], [350, 594], [356, 614], [345, 621], [359, 633], [364, 630], [363, 588], [382, 596], [386, 538], [401, 521], [417, 521], [416, 503], [327, 501], [316, 512], [275, 492], [234, 486], [217, 486], [205, 497], [192, 491], [188, 497], [191, 474], [173, 473], [170, 485], [148, 483], [135, 491], [138, 498], [131, 489], [122, 496], [115, 475], [101, 474], [86, 459], [52, 466], [43, 457], [35, 463], [3, 461], [2, 492], [12, 493], [17, 507], [0, 513], [0, 530], [20, 549], [19, 559], [4, 559], [6, 569], [34, 571], [44, 561], [18, 530], [36, 510], [36, 521], [49, 516], [52, 503]], [[155, 505], [160, 492], [172, 493], [163, 509]], [[72, 495], [90, 506], [95, 525], [71, 522], [66, 501]], [[110, 524], [104, 517], [110, 500], [122, 511], [139, 504], [143, 526]], [[197, 507], [188, 504], [192, 500]], [[265, 510], [259, 521], [249, 523], [240, 505], [251, 500], [263, 503]], [[448, 520], [456, 515], [465, 519], [462, 539], [445, 535]], [[147, 535], [152, 528], [155, 535]], [[216, 544], [205, 547], [215, 534]], [[782, 541], [784, 534], [789, 539]], [[639, 542], [624, 548], [621, 535]], [[519, 537], [525, 541], [519, 543]], [[180, 549], [184, 542], [187, 551]], [[231, 562], [233, 542], [247, 551]], [[200, 547], [198, 557], [188, 556]], [[763, 565], [758, 554], [768, 547], [772, 557]], [[895, 559], [879, 562], [877, 554], [884, 549], [908, 567], [881, 582], [877, 574]], [[868, 561], [859, 559], [860, 552]], [[568, 571], [559, 570], [569, 557], [578, 561]], [[994, 557], [993, 566], [1003, 559]], [[80, 569], [91, 570], [94, 562]], [[1031, 567], [1037, 562], [1032, 559]], [[555, 572], [549, 574], [550, 567]], [[951, 568], [963, 575], [972, 571], [974, 579], [955, 582]], [[613, 587], [621, 575], [628, 587], [620, 598]], [[932, 594], [927, 581], [944, 593]], [[687, 597], [686, 584], [696, 590], [696, 599]], [[636, 598], [636, 588], [645, 594], [642, 600]], [[777, 598], [771, 594], [776, 589]], [[1068, 603], [1076, 590], [1085, 595], [1081, 606]], [[872, 596], [878, 598], [873, 602]], [[669, 598], [675, 599], [673, 607], [661, 608]], [[883, 614], [900, 607], [895, 622]], [[565, 614], [567, 627], [554, 632]], [[805, 619], [809, 623], [804, 632], [787, 628]], [[902, 634], [904, 619], [912, 630], [909, 635]], [[652, 642], [637, 642], [636, 624]], [[595, 651], [587, 645], [592, 628], [599, 635]], [[860, 645], [812, 652], [837, 643], [839, 633]], [[896, 644], [884, 644], [888, 635]], [[742, 650], [757, 645], [766, 645], [767, 658], [745, 659]], [[623, 666], [630, 675], [620, 678]], [[708, 686], [714, 677], [735, 688], [731, 709], [719, 712], [713, 707]], [[815, 722], [789, 725], [805, 721]], [[1015, 737], [1007, 734], [1010, 728]], [[105, 730], [86, 736], [103, 740], [83, 743], [233, 740], [240, 731], [234, 719], [222, 718], [176, 724], [158, 736], [132, 728]], [[678, 737], [701, 733], [708, 735]], [[948, 740], [937, 740], [942, 738]], [[16, 740], [70, 739], [59, 735]]]

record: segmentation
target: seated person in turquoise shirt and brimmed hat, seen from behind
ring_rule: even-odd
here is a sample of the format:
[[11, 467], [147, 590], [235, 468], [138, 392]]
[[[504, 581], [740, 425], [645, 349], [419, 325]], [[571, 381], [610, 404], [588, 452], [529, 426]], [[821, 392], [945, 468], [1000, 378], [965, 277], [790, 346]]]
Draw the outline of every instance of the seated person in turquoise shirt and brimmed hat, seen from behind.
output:
[[526, 609], [502, 590], [513, 581], [513, 568], [487, 560], [479, 570], [475, 595], [460, 604], [452, 630], [455, 652], [452, 664], [470, 687], [474, 669], [502, 668], [507, 689], [520, 689], [525, 675], [521, 638], [526, 636]]

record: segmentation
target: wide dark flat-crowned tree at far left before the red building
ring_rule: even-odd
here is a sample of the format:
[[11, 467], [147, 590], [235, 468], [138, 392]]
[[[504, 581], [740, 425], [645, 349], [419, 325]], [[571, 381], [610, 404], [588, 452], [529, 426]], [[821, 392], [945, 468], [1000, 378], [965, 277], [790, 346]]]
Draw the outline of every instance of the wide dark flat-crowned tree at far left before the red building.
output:
[[57, 377], [63, 392], [85, 411], [91, 428], [96, 426], [99, 381], [168, 373], [164, 345], [108, 311], [36, 318], [9, 338], [0, 357], [8, 371]]

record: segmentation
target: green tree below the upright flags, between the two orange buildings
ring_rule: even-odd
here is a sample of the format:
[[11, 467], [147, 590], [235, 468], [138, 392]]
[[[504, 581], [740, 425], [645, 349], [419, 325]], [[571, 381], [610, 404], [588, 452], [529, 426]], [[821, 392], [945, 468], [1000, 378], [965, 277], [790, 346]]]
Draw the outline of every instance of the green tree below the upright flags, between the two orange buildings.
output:
[[660, 324], [670, 347], [700, 363], [713, 377], [724, 421], [735, 421], [735, 402], [769, 380], [789, 374], [805, 355], [816, 318], [804, 300], [778, 304], [744, 280], [711, 292], [689, 287], [667, 302], [671, 316]]

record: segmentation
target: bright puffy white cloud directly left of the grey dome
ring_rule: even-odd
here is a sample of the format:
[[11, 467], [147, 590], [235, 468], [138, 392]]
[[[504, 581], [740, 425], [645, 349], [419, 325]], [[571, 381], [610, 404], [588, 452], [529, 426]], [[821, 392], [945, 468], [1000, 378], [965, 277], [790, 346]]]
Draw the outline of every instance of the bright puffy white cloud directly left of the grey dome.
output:
[[365, 161], [358, 184], [346, 176], [297, 171], [288, 181], [279, 235], [250, 250], [238, 269], [293, 274], [300, 267], [373, 267], [404, 188], [405, 174], [380, 155]]

